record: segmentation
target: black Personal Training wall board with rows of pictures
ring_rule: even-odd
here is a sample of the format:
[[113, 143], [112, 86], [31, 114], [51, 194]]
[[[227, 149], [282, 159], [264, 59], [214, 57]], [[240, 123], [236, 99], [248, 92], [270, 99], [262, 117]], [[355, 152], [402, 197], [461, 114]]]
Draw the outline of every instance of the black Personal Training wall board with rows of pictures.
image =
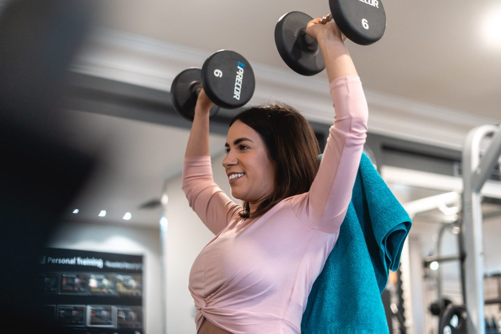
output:
[[64, 326], [62, 332], [144, 331], [141, 255], [46, 248], [40, 264], [41, 312], [48, 322]]

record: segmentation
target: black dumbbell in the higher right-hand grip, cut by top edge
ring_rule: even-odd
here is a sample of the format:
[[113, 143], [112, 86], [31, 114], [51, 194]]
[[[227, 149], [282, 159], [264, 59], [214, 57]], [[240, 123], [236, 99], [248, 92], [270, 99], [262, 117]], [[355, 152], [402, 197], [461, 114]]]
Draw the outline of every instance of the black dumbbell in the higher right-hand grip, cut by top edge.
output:
[[[352, 42], [370, 45], [381, 39], [386, 30], [386, 14], [381, 0], [329, 0], [334, 22]], [[306, 34], [313, 20], [302, 12], [283, 15], [275, 26], [275, 44], [284, 62], [295, 72], [312, 76], [325, 69], [322, 53]]]

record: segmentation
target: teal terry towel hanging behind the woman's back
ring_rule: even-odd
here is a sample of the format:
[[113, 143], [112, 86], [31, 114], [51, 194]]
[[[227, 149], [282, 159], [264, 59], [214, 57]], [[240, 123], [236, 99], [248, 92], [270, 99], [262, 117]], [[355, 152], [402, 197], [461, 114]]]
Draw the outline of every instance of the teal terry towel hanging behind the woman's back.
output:
[[381, 300], [411, 219], [363, 153], [339, 238], [313, 284], [301, 322], [309, 334], [388, 333]]

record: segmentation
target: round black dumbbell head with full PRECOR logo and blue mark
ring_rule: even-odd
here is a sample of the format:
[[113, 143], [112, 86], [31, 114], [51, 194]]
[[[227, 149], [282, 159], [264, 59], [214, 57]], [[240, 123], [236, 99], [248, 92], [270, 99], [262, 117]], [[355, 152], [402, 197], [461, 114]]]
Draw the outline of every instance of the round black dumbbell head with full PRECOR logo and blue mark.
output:
[[246, 104], [254, 94], [256, 80], [250, 64], [236, 52], [220, 50], [203, 63], [202, 86], [216, 105], [234, 109]]

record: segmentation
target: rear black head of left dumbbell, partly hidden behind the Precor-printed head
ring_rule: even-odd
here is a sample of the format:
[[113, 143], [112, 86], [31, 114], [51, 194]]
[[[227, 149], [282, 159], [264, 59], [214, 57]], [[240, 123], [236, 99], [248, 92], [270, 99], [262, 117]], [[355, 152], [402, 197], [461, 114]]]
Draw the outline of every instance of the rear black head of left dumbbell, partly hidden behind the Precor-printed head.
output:
[[[193, 121], [195, 115], [195, 105], [198, 97], [197, 88], [201, 84], [200, 74], [201, 70], [199, 68], [184, 70], [174, 78], [170, 86], [170, 97], [174, 109], [188, 121]], [[217, 106], [212, 107], [210, 117], [214, 117], [218, 111]]]

